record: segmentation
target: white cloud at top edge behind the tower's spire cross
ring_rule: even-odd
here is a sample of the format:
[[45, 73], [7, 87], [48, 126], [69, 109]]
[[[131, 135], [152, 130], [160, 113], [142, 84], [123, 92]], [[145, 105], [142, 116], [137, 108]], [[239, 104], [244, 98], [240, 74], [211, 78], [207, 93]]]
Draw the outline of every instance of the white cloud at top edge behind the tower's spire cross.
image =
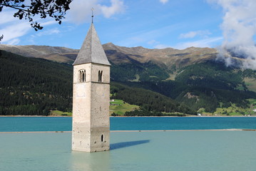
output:
[[91, 21], [91, 9], [93, 8], [93, 15], [103, 15], [110, 18], [113, 15], [121, 14], [126, 7], [121, 0], [111, 0], [111, 6], [101, 5], [99, 0], [76, 0], [72, 1], [70, 10], [67, 12], [66, 19], [69, 22], [81, 24]]

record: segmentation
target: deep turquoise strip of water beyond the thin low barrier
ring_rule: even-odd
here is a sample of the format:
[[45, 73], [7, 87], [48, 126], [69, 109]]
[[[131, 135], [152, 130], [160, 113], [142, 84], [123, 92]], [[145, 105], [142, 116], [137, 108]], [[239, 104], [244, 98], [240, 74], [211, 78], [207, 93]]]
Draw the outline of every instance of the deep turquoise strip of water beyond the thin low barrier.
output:
[[[68, 117], [1, 117], [0, 132], [71, 131]], [[256, 129], [256, 117], [111, 118], [111, 130]]]

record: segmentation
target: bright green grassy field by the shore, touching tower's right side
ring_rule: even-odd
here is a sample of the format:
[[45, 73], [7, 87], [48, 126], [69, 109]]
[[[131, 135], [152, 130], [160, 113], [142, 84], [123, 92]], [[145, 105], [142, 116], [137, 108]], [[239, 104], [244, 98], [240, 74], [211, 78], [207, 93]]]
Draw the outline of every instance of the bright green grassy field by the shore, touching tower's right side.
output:
[[111, 106], [109, 108], [109, 115], [112, 113], [116, 113], [117, 115], [124, 115], [126, 111], [131, 111], [138, 109], [138, 105], [130, 105], [129, 103], [124, 102], [123, 100], [116, 100], [111, 101]]

